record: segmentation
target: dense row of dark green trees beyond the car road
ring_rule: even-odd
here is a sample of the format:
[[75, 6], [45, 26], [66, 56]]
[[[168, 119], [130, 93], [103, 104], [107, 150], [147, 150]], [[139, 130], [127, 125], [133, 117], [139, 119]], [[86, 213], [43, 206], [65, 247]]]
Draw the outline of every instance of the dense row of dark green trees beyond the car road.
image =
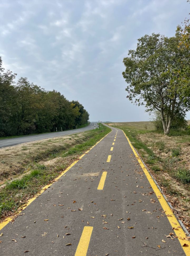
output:
[[61, 131], [87, 124], [89, 113], [56, 90], [45, 91], [26, 77], [5, 71], [0, 57], [0, 136]]

